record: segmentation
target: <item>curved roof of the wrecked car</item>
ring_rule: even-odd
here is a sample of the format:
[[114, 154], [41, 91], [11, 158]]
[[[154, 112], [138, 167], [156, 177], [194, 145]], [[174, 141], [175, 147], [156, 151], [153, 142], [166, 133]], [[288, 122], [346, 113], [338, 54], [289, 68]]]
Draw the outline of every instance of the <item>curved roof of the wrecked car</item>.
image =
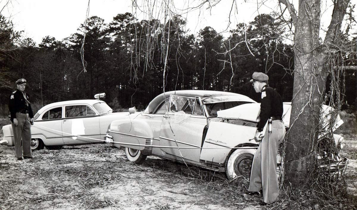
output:
[[159, 104], [164, 101], [166, 98], [170, 98], [170, 95], [176, 96], [185, 96], [185, 97], [201, 97], [202, 99], [212, 97], [212, 96], [222, 96], [222, 95], [233, 95], [233, 96], [240, 96], [242, 99], [247, 99], [251, 101], [252, 99], [248, 96], [238, 94], [238, 93], [231, 93], [231, 92], [223, 92], [223, 91], [205, 91], [205, 90], [180, 90], [180, 91], [168, 91], [161, 93], [160, 95], [156, 96], [147, 106], [146, 110], [148, 113], [153, 112], [154, 109], [159, 106]]

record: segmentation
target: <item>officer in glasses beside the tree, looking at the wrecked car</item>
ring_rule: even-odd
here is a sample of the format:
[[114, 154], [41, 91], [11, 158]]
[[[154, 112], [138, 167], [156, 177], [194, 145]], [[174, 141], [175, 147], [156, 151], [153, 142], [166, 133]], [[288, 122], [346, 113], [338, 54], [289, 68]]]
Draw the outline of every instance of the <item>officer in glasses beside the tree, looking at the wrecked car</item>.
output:
[[[261, 205], [275, 202], [279, 195], [276, 154], [285, 136], [285, 126], [282, 122], [283, 101], [280, 94], [268, 86], [268, 80], [268, 75], [261, 72], [254, 72], [250, 80], [255, 92], [261, 93], [260, 121], [255, 135], [255, 139], [261, 139], [261, 144], [254, 154], [248, 194], [260, 194], [262, 190], [264, 201]], [[263, 133], [269, 119], [271, 130], [266, 129]]]

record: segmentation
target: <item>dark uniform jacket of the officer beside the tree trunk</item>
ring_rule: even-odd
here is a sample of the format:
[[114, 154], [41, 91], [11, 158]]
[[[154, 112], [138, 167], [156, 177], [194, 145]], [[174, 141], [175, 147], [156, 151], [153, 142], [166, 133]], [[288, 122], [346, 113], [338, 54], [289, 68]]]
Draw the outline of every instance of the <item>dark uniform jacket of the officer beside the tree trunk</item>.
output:
[[270, 117], [281, 120], [283, 116], [283, 99], [278, 92], [266, 84], [262, 88], [261, 96], [258, 132], [263, 131], [263, 128]]

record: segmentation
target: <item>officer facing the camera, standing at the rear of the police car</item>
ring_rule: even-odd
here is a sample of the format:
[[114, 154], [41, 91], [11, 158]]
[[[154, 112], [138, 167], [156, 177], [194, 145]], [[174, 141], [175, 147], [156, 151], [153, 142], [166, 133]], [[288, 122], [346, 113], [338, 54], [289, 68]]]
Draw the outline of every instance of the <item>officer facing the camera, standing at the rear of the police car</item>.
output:
[[[9, 99], [10, 120], [15, 139], [15, 156], [17, 160], [32, 159], [31, 124], [34, 122], [29, 95], [26, 94], [26, 80], [16, 81], [17, 90], [12, 92]], [[31, 119], [29, 119], [31, 118]]]

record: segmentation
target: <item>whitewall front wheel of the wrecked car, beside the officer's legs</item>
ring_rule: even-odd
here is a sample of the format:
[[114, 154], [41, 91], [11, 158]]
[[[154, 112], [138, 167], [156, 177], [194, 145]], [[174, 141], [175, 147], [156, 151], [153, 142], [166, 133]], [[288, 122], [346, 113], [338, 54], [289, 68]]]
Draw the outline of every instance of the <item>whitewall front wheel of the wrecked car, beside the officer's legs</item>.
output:
[[243, 176], [249, 180], [255, 152], [256, 149], [234, 150], [226, 160], [225, 170], [227, 178], [232, 180], [237, 176]]

